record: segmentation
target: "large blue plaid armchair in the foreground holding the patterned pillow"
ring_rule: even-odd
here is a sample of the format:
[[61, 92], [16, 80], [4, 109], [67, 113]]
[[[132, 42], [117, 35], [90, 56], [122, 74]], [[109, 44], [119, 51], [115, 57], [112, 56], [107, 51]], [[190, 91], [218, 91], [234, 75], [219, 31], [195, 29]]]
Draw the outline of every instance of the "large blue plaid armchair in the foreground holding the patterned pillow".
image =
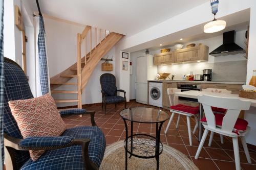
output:
[[[14, 61], [5, 58], [4, 145], [6, 169], [99, 169], [105, 152], [105, 137], [94, 122], [95, 112], [84, 109], [60, 114], [90, 114], [93, 127], [67, 129], [61, 136], [23, 139], [11, 114], [8, 101], [31, 99], [27, 77]], [[29, 150], [45, 150], [32, 161]]]

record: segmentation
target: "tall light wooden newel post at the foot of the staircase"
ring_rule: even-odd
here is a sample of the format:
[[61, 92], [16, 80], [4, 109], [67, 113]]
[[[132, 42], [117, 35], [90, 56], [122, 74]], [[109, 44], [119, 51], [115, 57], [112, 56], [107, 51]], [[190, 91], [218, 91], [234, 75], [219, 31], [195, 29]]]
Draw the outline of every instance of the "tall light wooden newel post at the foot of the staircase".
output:
[[77, 33], [77, 91], [77, 107], [81, 109], [81, 34], [79, 33]]

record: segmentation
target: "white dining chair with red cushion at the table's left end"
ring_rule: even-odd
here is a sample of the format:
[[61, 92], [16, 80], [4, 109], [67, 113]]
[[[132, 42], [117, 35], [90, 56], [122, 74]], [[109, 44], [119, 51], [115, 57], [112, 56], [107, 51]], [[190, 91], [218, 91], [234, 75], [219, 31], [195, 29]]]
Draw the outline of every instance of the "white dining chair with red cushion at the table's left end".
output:
[[177, 124], [176, 128], [179, 126], [180, 121], [180, 115], [185, 115], [187, 118], [187, 130], [188, 130], [188, 138], [189, 138], [189, 144], [192, 145], [192, 136], [191, 136], [191, 129], [190, 129], [190, 117], [194, 116], [196, 119], [196, 125], [193, 130], [193, 134], [196, 132], [198, 127], [198, 113], [199, 113], [199, 107], [193, 107], [193, 106], [186, 106], [182, 104], [178, 104], [178, 98], [174, 98], [175, 92], [180, 92], [181, 90], [178, 88], [167, 88], [167, 94], [169, 97], [170, 102], [170, 112], [172, 115], [170, 116], [168, 125], [164, 131], [165, 134], [167, 134], [167, 131], [169, 129], [170, 124], [172, 123], [172, 120], [174, 118], [175, 113], [178, 114]]

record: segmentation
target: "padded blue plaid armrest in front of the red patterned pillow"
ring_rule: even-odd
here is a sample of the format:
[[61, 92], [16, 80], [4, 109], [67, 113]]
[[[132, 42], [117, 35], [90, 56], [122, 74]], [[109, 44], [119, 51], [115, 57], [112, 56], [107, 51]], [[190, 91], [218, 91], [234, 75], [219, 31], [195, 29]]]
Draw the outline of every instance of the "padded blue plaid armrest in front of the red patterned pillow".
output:
[[49, 136], [49, 137], [28, 137], [18, 143], [22, 149], [48, 149], [60, 148], [69, 145], [73, 141], [69, 136]]

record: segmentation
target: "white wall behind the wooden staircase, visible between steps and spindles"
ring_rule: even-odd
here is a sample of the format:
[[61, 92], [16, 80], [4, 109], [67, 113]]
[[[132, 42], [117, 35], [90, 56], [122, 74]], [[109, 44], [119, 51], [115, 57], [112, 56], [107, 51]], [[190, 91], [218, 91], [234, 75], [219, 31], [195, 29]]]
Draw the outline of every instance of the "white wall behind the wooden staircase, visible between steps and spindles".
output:
[[[46, 42], [47, 42], [47, 53], [49, 61], [49, 72], [50, 77], [59, 74], [61, 71], [67, 69], [72, 64], [77, 61], [76, 52], [76, 34], [81, 33], [84, 29], [83, 26], [73, 25], [71, 23], [66, 23], [62, 21], [53, 20], [45, 17], [45, 29], [46, 29]], [[94, 35], [94, 29], [92, 35]], [[103, 35], [103, 34], [102, 34]], [[88, 37], [88, 41], [89, 42]], [[102, 37], [103, 38], [103, 37]], [[99, 42], [99, 37], [97, 42]], [[93, 44], [95, 41], [93, 39]], [[81, 44], [82, 56], [85, 52], [84, 42]], [[87, 51], [89, 51], [89, 43], [87, 46]], [[103, 58], [112, 58], [115, 55], [115, 47], [113, 47]], [[91, 78], [82, 92], [82, 104], [100, 103], [101, 102], [101, 87], [99, 82], [100, 75], [110, 72], [115, 74], [115, 59], [113, 62], [113, 71], [101, 71], [100, 61], [96, 68], [94, 69]], [[74, 78], [70, 82], [76, 82], [77, 79]], [[76, 86], [60, 86], [58, 90], [76, 90]], [[76, 99], [75, 94], [53, 94], [55, 99]], [[76, 105], [76, 103], [58, 104], [61, 106]]]

